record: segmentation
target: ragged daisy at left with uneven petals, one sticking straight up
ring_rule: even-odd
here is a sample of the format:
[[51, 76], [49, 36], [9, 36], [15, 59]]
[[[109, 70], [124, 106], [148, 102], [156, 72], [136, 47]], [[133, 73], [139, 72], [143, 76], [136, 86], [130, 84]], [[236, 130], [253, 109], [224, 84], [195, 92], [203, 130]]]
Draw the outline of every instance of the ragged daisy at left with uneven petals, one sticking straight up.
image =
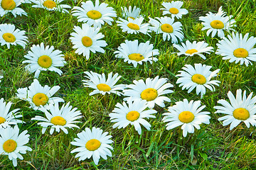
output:
[[60, 86], [41, 86], [37, 79], [33, 80], [31, 86], [28, 88], [20, 88], [17, 90], [17, 97], [23, 101], [28, 101], [31, 105], [31, 108], [38, 110], [39, 106], [45, 106], [48, 108], [50, 103], [64, 102], [62, 98], [52, 97], [58, 90]]

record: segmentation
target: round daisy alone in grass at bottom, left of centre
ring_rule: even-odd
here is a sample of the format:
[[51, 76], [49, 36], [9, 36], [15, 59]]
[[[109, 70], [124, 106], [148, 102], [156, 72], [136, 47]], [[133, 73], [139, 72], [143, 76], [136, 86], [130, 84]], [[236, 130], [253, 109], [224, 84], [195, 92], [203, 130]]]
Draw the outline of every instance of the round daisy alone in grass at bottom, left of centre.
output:
[[78, 152], [75, 157], [79, 157], [79, 161], [85, 159], [90, 159], [92, 157], [93, 162], [97, 165], [99, 163], [100, 157], [107, 159], [107, 156], [112, 157], [110, 150], [113, 147], [110, 144], [113, 143], [110, 138], [111, 135], [107, 135], [108, 132], [103, 132], [100, 128], [85, 128], [82, 132], [78, 133], [78, 138], [75, 138], [75, 142], [70, 142], [71, 145], [78, 146], [78, 148], [73, 149], [71, 153]]

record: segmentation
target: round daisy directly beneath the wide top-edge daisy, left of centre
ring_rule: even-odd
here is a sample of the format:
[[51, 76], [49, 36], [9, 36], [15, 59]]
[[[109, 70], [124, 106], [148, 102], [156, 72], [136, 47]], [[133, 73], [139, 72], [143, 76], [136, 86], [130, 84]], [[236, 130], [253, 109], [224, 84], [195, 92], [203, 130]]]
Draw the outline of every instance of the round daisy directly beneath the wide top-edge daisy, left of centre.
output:
[[70, 34], [72, 36], [70, 40], [74, 45], [73, 48], [77, 49], [75, 53], [78, 53], [78, 55], [82, 54], [88, 60], [90, 52], [105, 52], [102, 47], [106, 47], [107, 42], [100, 40], [105, 37], [105, 35], [99, 33], [100, 28], [93, 28], [83, 23], [82, 28], [75, 26], [74, 30], [75, 33]]

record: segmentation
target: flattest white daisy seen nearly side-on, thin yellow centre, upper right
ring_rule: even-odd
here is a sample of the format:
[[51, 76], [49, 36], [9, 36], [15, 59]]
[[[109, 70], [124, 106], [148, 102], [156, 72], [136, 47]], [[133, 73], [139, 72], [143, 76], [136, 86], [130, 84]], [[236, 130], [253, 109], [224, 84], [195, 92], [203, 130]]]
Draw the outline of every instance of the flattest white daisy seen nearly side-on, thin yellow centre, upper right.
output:
[[203, 60], [206, 60], [206, 56], [204, 56], [202, 53], [210, 54], [210, 52], [213, 52], [213, 47], [207, 47], [208, 43], [201, 41], [196, 42], [193, 41], [192, 43], [189, 42], [189, 40], [186, 40], [186, 44], [181, 42], [181, 45], [175, 45], [178, 52], [178, 55], [186, 55], [188, 57], [191, 57], [193, 55], [199, 55]]

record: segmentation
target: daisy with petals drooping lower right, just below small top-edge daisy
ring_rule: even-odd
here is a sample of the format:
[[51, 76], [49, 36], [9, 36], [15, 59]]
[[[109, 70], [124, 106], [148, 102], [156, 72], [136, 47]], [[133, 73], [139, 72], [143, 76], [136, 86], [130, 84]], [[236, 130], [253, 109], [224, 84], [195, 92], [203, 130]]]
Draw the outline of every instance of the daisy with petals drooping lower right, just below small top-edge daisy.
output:
[[172, 43], [178, 43], [178, 40], [183, 40], [184, 35], [182, 32], [182, 25], [180, 22], [174, 22], [174, 18], [161, 17], [156, 19], [150, 18], [151, 24], [150, 30], [153, 30], [157, 34], [163, 34], [163, 39], [170, 40]]

